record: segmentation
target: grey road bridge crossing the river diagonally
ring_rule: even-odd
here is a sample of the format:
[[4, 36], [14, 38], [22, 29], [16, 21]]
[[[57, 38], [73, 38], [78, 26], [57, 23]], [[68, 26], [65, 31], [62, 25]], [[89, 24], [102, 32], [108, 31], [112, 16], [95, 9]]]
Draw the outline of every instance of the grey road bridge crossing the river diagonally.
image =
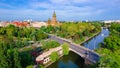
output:
[[75, 44], [67, 39], [60, 38], [54, 35], [50, 35], [50, 39], [58, 41], [60, 44], [63, 43], [68, 43], [69, 44], [69, 49], [76, 54], [80, 55], [82, 58], [84, 58], [85, 61], [89, 61], [91, 63], [96, 63], [99, 61], [100, 55], [97, 54], [96, 52], [85, 48], [83, 46], [80, 46], [78, 44]]

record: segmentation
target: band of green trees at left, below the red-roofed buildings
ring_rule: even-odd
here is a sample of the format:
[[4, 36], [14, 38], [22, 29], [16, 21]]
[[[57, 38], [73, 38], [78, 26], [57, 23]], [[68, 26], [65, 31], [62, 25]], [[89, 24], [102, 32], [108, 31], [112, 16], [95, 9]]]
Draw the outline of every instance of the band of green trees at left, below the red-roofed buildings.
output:
[[48, 37], [43, 31], [35, 29], [33, 27], [16, 27], [9, 25], [7, 27], [0, 28], [0, 35], [7, 36], [9, 39], [20, 40], [34, 40], [39, 41]]

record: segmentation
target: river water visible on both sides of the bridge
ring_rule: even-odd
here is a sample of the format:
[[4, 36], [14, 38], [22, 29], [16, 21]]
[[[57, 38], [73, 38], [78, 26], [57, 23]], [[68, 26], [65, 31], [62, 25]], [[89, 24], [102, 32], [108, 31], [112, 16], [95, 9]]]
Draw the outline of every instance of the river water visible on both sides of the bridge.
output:
[[[101, 33], [93, 37], [89, 41], [83, 43], [83, 46], [94, 50], [99, 48], [99, 43], [104, 41], [104, 38], [109, 36], [108, 29], [102, 29]], [[69, 52], [69, 55], [61, 57], [58, 61], [51, 64], [48, 68], [84, 68], [84, 59], [74, 52]]]

